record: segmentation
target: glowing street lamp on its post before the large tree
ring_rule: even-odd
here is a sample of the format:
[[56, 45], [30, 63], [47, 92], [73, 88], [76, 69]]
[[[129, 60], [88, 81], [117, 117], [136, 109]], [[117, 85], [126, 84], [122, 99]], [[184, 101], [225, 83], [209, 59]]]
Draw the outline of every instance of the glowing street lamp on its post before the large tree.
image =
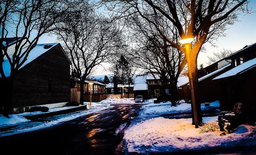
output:
[[190, 60], [190, 52], [191, 52], [191, 42], [194, 40], [194, 37], [186, 37], [179, 40], [179, 42], [185, 46], [185, 56], [187, 60], [187, 68], [188, 68], [188, 79], [189, 79], [189, 86], [190, 86], [190, 93], [191, 93], [191, 100], [192, 100], [192, 110], [194, 115], [194, 123], [196, 128], [198, 128], [198, 116], [197, 116], [197, 104], [196, 104], [196, 97], [195, 97], [195, 90], [194, 90], [194, 83], [191, 73], [191, 60]]

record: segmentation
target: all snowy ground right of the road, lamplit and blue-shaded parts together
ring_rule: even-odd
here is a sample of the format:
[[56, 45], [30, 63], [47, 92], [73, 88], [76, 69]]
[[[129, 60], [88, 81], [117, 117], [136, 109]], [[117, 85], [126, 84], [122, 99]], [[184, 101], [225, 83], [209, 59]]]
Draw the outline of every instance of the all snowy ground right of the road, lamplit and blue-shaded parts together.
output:
[[[202, 111], [215, 108], [218, 112], [219, 101], [209, 106], [201, 104]], [[195, 128], [191, 118], [168, 119], [163, 115], [182, 115], [191, 112], [191, 105], [180, 103], [171, 106], [170, 102], [142, 106], [137, 120], [125, 131], [125, 151], [128, 153], [175, 153], [186, 151], [218, 150], [234, 147], [256, 146], [255, 126], [241, 125], [232, 134], [222, 134], [215, 117], [204, 117], [205, 127]], [[148, 119], [151, 118], [151, 119]], [[143, 121], [141, 121], [143, 120]], [[214, 131], [205, 132], [206, 126]], [[204, 131], [203, 131], [204, 130]], [[246, 142], [246, 143], [244, 143]]]

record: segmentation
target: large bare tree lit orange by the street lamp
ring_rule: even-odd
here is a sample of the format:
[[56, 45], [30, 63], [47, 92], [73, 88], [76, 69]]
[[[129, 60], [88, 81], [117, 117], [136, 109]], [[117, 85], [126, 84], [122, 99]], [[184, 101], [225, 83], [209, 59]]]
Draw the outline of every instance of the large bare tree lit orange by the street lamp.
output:
[[[196, 127], [202, 122], [201, 107], [198, 96], [198, 69], [197, 57], [206, 41], [215, 40], [220, 36], [224, 36], [226, 26], [234, 24], [237, 21], [239, 11], [248, 12], [246, 0], [191, 0], [191, 1], [172, 1], [172, 0], [144, 0], [144, 1], [118, 1], [118, 0], [102, 0], [103, 2], [111, 2], [106, 5], [109, 9], [120, 13], [122, 17], [131, 14], [139, 14], [153, 25], [161, 36], [172, 47], [185, 53], [188, 64], [188, 77], [192, 99], [193, 123]], [[150, 10], [151, 13], [148, 13]], [[153, 14], [152, 14], [153, 13]], [[195, 38], [188, 44], [187, 50], [178, 42], [174, 42], [172, 38], [166, 35], [166, 31], [161, 29], [159, 21], [161, 18], [169, 21], [169, 27], [174, 26], [179, 37]], [[195, 95], [193, 95], [195, 94]]]

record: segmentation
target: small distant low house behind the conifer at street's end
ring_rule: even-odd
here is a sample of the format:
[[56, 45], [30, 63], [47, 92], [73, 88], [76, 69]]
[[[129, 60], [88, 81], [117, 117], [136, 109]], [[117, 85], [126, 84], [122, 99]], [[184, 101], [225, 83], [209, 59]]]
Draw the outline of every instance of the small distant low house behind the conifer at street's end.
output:
[[[117, 84], [118, 94], [133, 94], [133, 84]], [[106, 84], [106, 94], [114, 94], [114, 83]]]

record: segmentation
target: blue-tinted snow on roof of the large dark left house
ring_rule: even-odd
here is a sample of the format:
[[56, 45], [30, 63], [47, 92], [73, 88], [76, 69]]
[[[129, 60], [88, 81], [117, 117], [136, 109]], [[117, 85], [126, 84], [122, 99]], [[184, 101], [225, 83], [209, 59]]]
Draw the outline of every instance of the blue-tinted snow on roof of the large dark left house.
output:
[[[27, 60], [23, 63], [23, 65], [19, 68], [23, 68], [25, 65], [27, 65], [28, 63], [30, 63], [31, 61], [33, 61], [34, 59], [36, 59], [37, 57], [39, 57], [40, 55], [46, 53], [47, 51], [49, 51], [52, 47], [56, 46], [58, 43], [42, 43], [42, 44], [37, 44], [35, 48], [33, 48], [28, 57]], [[23, 49], [22, 52], [24, 52], [26, 49]], [[12, 57], [11, 57], [12, 59]], [[20, 62], [24, 59], [24, 57], [22, 57], [20, 59]], [[3, 69], [4, 69], [4, 73], [6, 75], [6, 77], [10, 76], [10, 63], [7, 60], [7, 58], [4, 59], [3, 62]], [[1, 75], [0, 75], [1, 77]]]

